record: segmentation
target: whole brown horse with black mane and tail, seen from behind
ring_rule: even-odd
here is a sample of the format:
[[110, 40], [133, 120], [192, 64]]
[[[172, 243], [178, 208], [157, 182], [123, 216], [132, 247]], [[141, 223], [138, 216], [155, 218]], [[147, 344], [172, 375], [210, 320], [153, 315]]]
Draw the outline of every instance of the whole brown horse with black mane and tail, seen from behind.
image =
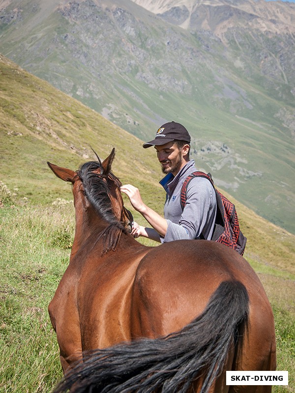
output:
[[147, 247], [129, 233], [114, 159], [77, 172], [76, 232], [50, 318], [64, 378], [56, 392], [270, 392], [226, 386], [226, 370], [275, 370], [266, 293], [236, 251], [207, 240]]

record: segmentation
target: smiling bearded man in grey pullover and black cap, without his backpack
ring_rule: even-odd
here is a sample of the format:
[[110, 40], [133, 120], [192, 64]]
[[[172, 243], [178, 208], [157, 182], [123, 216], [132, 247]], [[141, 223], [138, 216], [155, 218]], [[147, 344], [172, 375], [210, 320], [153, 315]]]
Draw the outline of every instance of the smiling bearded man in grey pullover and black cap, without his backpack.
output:
[[216, 217], [216, 197], [211, 183], [204, 177], [194, 177], [188, 184], [186, 204], [180, 205], [181, 187], [186, 177], [197, 171], [194, 160], [189, 160], [190, 135], [181, 124], [174, 121], [163, 124], [154, 140], [143, 147], [154, 146], [157, 158], [166, 176], [160, 184], [166, 191], [164, 218], [149, 208], [139, 190], [123, 185], [135, 210], [140, 212], [152, 228], [134, 223], [134, 237], [144, 236], [158, 242], [180, 239], [207, 239], [212, 237]]

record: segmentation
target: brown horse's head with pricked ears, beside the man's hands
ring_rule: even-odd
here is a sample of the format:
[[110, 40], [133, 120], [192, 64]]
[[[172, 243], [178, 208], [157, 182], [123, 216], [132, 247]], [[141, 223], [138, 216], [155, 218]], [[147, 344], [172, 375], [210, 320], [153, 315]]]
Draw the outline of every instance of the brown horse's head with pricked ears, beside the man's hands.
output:
[[[96, 216], [107, 225], [130, 232], [132, 215], [124, 207], [120, 192], [121, 182], [111, 171], [115, 148], [103, 162], [97, 155], [96, 157], [98, 161], [82, 164], [77, 171], [49, 162], [47, 164], [61, 180], [72, 183], [76, 216], [77, 209], [83, 209], [85, 214], [90, 216], [89, 219], [95, 219]], [[81, 211], [78, 214], [81, 215]]]

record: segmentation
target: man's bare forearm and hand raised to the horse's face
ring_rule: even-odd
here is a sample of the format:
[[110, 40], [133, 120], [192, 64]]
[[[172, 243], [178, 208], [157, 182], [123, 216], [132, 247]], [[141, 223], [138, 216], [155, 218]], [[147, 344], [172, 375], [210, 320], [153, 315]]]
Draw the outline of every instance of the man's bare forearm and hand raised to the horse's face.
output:
[[[167, 232], [167, 221], [143, 202], [138, 188], [131, 184], [126, 184], [121, 187], [121, 192], [127, 195], [134, 209], [141, 213], [141, 215], [148, 221], [149, 225], [151, 225], [160, 236], [164, 237]], [[146, 230], [146, 234], [147, 236], [145, 237], [149, 238], [151, 238], [150, 236], [155, 235], [154, 232], [151, 232], [151, 230]], [[141, 236], [144, 235], [141, 234]], [[159, 241], [159, 239], [157, 241]]]

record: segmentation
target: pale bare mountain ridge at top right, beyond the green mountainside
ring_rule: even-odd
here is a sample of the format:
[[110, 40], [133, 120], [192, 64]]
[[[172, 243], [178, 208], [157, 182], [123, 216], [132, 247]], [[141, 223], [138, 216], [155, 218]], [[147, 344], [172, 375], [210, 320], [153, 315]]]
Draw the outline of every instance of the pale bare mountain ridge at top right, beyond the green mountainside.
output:
[[132, 0], [167, 22], [189, 30], [210, 30], [224, 39], [230, 28], [295, 33], [295, 5], [264, 0]]

